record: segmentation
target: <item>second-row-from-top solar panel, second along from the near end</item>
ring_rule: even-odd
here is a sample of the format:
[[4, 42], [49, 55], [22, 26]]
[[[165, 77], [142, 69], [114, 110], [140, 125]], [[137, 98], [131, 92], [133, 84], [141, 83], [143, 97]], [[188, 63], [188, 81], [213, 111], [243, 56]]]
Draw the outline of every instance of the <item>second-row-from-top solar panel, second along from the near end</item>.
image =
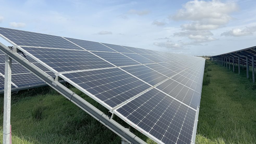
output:
[[99, 57], [107, 60], [111, 64], [114, 64], [115, 66], [128, 66], [128, 65], [139, 65], [139, 62], [136, 62], [125, 55], [122, 55], [120, 53], [108, 53], [108, 52], [92, 52]]

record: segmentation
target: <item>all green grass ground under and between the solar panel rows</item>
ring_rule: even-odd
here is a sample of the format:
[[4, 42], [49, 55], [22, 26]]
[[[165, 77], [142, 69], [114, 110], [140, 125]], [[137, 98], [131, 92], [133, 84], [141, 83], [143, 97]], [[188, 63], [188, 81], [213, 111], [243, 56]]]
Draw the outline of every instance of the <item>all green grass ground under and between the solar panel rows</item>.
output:
[[[256, 85], [246, 79], [245, 69], [241, 68], [239, 76], [238, 67], [233, 73], [210, 61], [205, 66], [196, 143], [255, 143]], [[79, 90], [73, 91], [108, 112]], [[49, 87], [14, 93], [11, 100], [14, 144], [121, 143], [120, 137]], [[0, 104], [2, 131], [3, 96]], [[125, 122], [115, 119], [127, 127]], [[147, 143], [154, 143], [136, 130], [133, 132]]]

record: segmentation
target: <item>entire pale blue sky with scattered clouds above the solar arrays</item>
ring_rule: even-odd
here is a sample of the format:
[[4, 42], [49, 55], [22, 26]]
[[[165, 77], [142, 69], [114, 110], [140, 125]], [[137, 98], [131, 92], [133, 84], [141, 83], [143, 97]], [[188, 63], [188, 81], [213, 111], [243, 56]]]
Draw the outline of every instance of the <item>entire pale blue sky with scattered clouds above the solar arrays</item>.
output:
[[5, 28], [187, 55], [256, 46], [255, 0], [0, 3], [0, 27]]

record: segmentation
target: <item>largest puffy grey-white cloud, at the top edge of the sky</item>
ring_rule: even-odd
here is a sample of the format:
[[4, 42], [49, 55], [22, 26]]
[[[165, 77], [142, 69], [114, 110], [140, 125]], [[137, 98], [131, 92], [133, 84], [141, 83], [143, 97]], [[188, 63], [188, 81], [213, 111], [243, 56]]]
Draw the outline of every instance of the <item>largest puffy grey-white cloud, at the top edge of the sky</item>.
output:
[[192, 21], [181, 25], [183, 30], [212, 30], [227, 24], [232, 17], [229, 15], [238, 10], [234, 2], [223, 3], [221, 1], [189, 1], [183, 5], [170, 19], [179, 21]]

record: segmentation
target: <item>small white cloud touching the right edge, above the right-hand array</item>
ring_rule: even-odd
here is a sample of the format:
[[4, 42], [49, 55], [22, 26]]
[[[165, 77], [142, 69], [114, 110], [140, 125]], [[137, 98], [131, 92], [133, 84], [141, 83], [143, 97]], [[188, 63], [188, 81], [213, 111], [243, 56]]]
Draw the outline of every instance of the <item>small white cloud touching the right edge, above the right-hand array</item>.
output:
[[247, 36], [253, 35], [254, 32], [256, 32], [256, 26], [245, 27], [243, 29], [234, 28], [232, 30], [222, 33], [221, 36]]

